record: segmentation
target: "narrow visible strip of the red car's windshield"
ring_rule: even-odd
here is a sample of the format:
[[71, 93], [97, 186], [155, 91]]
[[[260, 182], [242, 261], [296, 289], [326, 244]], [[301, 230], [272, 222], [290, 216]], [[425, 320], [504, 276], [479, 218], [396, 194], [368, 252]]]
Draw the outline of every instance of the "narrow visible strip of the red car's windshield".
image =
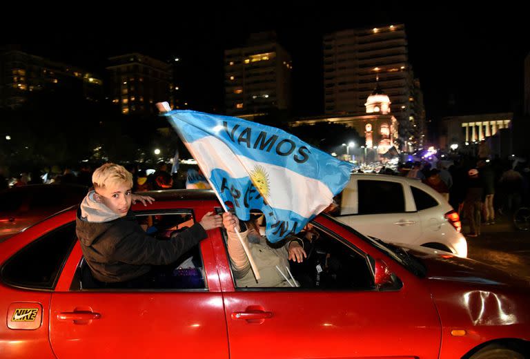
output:
[[418, 277], [423, 278], [426, 275], [426, 267], [418, 258], [416, 258], [414, 255], [409, 253], [406, 249], [395, 246], [394, 244], [389, 244], [386, 242], [383, 242], [382, 240], [375, 238], [375, 237], [368, 237], [366, 235], [363, 235], [362, 233], [359, 233], [355, 231], [355, 229], [351, 228], [351, 226], [348, 226], [347, 224], [344, 224], [343, 222], [340, 222], [334, 217], [331, 217], [330, 215], [324, 215], [329, 220], [332, 220], [333, 222], [339, 224], [344, 229], [347, 229], [348, 231], [354, 233], [357, 235], [357, 237], [362, 238], [363, 240], [366, 240], [366, 242], [370, 242], [373, 246], [375, 246], [380, 251], [384, 252], [386, 255], [389, 255], [389, 257], [393, 258], [396, 262], [399, 262], [402, 266], [404, 266], [407, 270], [409, 270], [411, 273], [418, 275]]

